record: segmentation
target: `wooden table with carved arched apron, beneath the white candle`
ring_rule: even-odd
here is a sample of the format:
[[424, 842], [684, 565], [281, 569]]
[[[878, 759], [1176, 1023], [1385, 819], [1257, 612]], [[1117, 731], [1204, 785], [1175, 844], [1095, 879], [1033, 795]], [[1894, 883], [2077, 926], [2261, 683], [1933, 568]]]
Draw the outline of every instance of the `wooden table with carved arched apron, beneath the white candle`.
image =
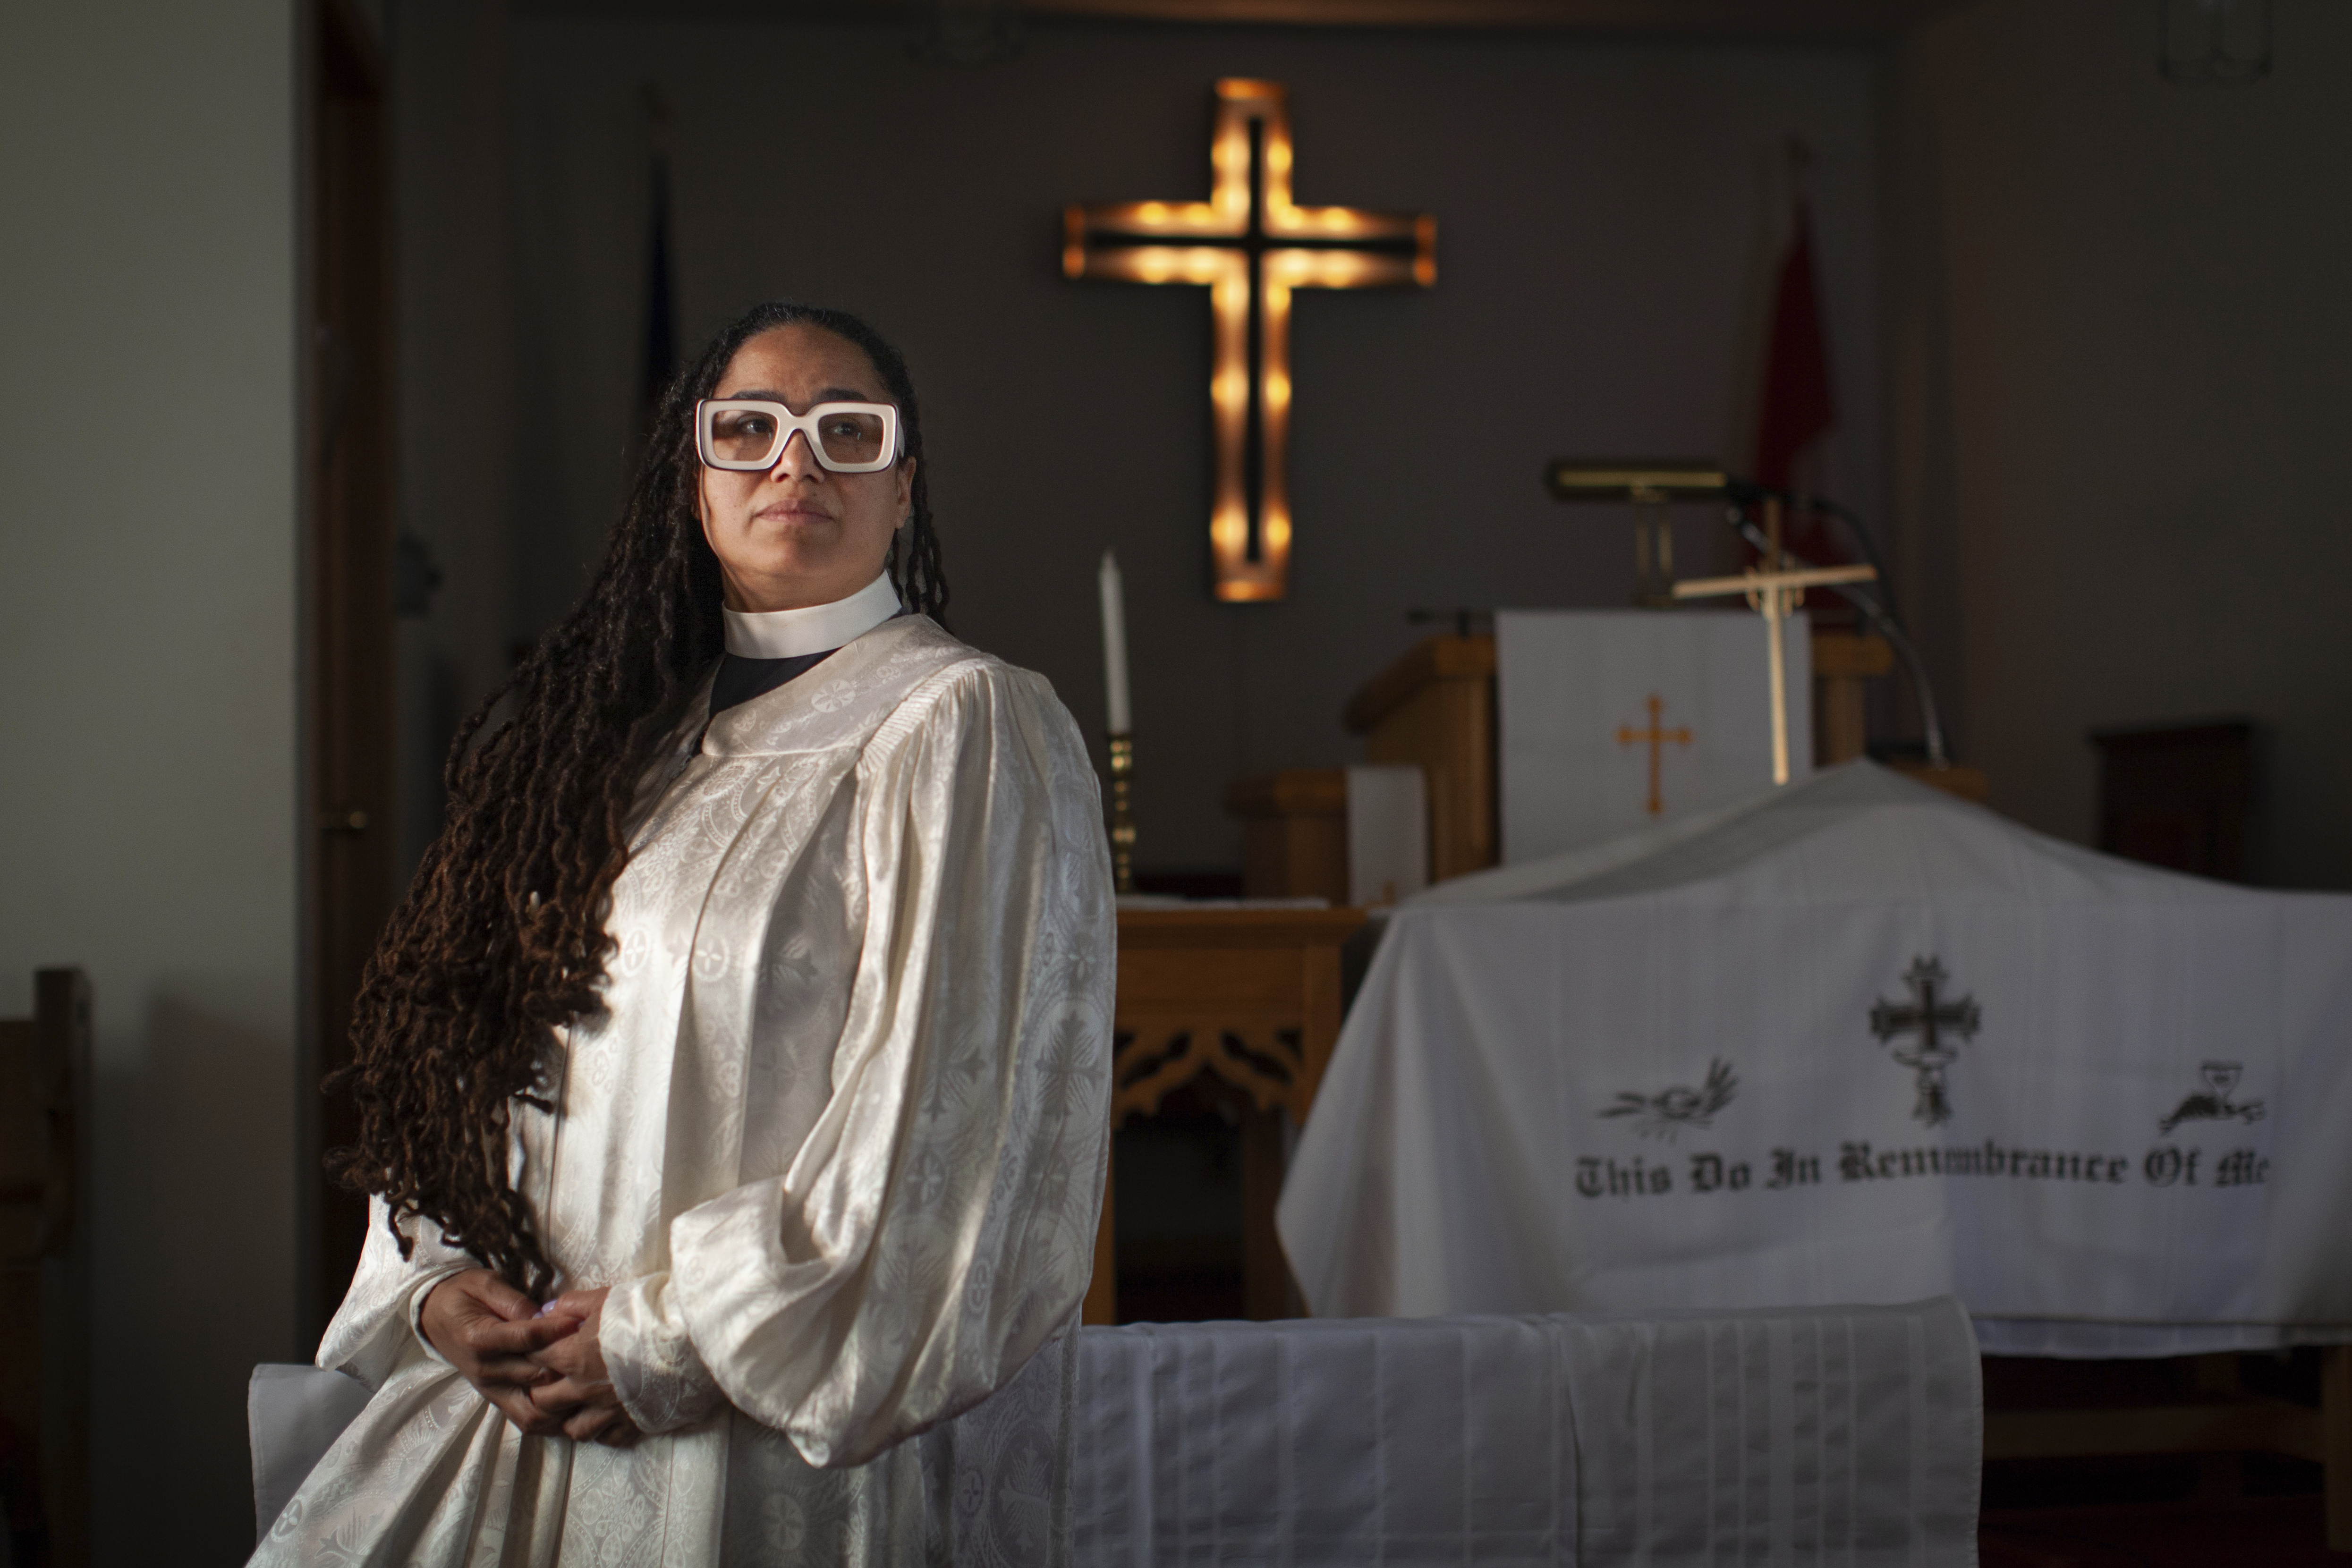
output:
[[[1338, 1041], [1338, 950], [1359, 910], [1120, 910], [1110, 1126], [1150, 1117], [1181, 1084], [1216, 1074], [1254, 1107], [1242, 1126], [1247, 1316], [1284, 1316], [1289, 1267], [1275, 1237], [1282, 1124], [1305, 1126]], [[1117, 1161], [1094, 1234], [1084, 1321], [1117, 1321]]]

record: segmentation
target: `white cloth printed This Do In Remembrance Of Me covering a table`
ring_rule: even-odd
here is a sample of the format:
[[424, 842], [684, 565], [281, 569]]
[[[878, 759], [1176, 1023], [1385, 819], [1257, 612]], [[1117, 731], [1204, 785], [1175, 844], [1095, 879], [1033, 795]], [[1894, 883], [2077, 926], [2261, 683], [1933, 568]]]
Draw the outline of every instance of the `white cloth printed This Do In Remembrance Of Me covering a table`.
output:
[[1987, 1349], [2345, 1340], [2347, 1124], [2352, 898], [1860, 762], [1404, 903], [1279, 1229], [1331, 1316], [1952, 1293]]

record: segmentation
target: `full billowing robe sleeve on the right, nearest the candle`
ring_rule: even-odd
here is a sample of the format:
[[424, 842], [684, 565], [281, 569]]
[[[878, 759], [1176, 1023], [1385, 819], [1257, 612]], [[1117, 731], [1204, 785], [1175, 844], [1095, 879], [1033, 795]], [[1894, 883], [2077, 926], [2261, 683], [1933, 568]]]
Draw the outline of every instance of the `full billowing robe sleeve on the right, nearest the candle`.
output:
[[1070, 1319], [1110, 1143], [1110, 853], [1070, 715], [1035, 675], [946, 672], [858, 795], [830, 1100], [781, 1180], [677, 1215], [600, 1331], [647, 1432], [727, 1399], [811, 1465], [978, 1403]]

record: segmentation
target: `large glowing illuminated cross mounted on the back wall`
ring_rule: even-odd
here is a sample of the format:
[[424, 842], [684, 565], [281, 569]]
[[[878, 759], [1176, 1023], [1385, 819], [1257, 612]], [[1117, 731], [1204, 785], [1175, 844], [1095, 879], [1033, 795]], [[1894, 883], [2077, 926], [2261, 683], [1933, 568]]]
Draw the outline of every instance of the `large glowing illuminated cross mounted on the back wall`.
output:
[[1291, 292], [1430, 287], [1437, 219], [1294, 205], [1291, 115], [1279, 82], [1216, 85], [1209, 169], [1207, 202], [1063, 209], [1061, 270], [1209, 289], [1216, 597], [1279, 599], [1291, 557]]

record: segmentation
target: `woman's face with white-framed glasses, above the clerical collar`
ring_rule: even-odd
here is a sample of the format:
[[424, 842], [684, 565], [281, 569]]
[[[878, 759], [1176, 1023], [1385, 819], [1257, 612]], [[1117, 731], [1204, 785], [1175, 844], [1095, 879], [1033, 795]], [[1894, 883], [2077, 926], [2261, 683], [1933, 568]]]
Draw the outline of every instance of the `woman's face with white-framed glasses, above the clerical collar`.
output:
[[[894, 402], [863, 348], [809, 322], [746, 341], [713, 395], [764, 397], [793, 414], [818, 402]], [[800, 433], [767, 473], [701, 473], [703, 538], [734, 611], [833, 604], [873, 583], [915, 487], [915, 458], [830, 473]]]

